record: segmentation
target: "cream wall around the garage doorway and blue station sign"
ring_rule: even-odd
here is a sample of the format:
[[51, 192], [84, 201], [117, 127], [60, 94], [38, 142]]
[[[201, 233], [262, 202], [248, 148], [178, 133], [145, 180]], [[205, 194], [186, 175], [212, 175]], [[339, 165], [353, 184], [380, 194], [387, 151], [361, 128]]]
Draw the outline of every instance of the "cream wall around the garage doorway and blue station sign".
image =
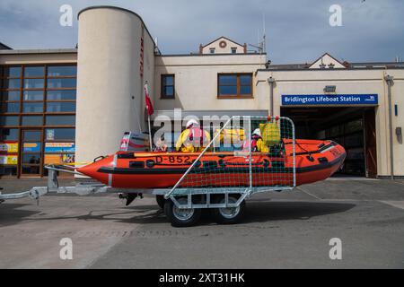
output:
[[[387, 85], [385, 74], [396, 76], [392, 88], [392, 100], [404, 107], [401, 96], [404, 92], [403, 70], [304, 70], [304, 71], [259, 71], [257, 90], [260, 94], [269, 94], [267, 79], [276, 80], [274, 88], [274, 110], [280, 114], [281, 95], [283, 94], [323, 94], [325, 85], [336, 85], [337, 93], [377, 93], [379, 105], [375, 109], [377, 171], [379, 176], [390, 175], [389, 118]], [[328, 106], [329, 107], [329, 106]], [[393, 126], [404, 126], [404, 113], [393, 117]], [[395, 135], [394, 135], [395, 137]], [[396, 176], [404, 176], [404, 146], [394, 141], [394, 170]]]

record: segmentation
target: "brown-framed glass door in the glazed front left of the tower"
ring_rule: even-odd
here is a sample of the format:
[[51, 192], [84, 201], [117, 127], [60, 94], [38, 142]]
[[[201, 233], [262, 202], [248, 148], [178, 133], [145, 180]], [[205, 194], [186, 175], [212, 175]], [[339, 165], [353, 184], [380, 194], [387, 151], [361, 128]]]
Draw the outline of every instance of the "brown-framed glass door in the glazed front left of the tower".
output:
[[22, 129], [21, 176], [40, 177], [42, 169], [42, 130]]

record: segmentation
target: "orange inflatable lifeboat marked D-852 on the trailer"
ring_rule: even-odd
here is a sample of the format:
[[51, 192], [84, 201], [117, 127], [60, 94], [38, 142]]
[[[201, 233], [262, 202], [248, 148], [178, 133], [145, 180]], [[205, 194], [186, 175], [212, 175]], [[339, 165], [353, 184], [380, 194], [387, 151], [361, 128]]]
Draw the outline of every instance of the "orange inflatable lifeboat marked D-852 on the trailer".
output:
[[[294, 151], [293, 151], [294, 148]], [[293, 156], [295, 152], [295, 156]], [[200, 153], [116, 152], [77, 171], [118, 188], [171, 188]], [[329, 178], [343, 164], [344, 148], [332, 141], [283, 139], [270, 153], [206, 152], [180, 187], [295, 186]], [[294, 162], [295, 161], [295, 162]], [[250, 177], [252, 174], [252, 177]]]

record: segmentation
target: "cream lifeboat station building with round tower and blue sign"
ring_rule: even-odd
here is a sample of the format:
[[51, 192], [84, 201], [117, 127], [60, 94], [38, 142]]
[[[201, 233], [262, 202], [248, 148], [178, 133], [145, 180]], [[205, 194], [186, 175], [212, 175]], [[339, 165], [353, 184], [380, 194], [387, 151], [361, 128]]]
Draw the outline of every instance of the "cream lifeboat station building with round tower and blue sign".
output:
[[341, 62], [325, 53], [272, 65], [225, 37], [164, 55], [132, 11], [93, 6], [78, 23], [77, 48], [0, 45], [1, 177], [44, 177], [46, 164], [116, 152], [124, 132], [148, 131], [147, 83], [154, 131], [155, 121], [179, 112], [291, 117], [297, 138], [346, 148], [341, 173], [404, 178], [404, 63]]

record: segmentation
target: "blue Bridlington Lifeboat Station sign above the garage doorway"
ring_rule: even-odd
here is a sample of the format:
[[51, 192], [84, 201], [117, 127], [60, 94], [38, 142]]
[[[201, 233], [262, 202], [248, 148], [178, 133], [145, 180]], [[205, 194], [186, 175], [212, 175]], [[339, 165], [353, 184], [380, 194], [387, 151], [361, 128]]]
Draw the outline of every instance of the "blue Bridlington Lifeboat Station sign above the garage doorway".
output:
[[377, 94], [282, 95], [282, 106], [377, 104]]

